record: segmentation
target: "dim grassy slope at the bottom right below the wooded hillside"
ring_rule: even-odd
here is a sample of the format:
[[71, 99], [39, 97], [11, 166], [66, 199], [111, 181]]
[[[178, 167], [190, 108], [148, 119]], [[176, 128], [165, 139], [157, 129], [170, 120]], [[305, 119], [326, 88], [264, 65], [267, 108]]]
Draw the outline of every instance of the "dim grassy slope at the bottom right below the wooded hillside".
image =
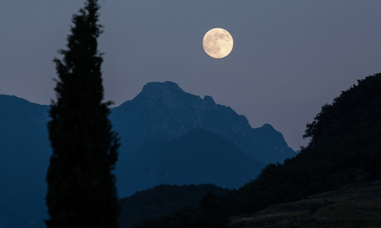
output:
[[308, 199], [231, 218], [231, 228], [381, 227], [381, 182], [347, 185]]

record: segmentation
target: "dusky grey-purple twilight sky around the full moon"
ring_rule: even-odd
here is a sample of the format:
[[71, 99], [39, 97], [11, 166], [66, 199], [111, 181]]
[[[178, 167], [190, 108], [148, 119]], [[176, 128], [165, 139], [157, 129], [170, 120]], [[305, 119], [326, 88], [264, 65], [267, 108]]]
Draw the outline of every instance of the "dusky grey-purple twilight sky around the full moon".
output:
[[[49, 104], [54, 57], [66, 48], [84, 1], [0, 1], [0, 94]], [[306, 145], [306, 123], [357, 79], [381, 71], [381, 1], [100, 1], [105, 99], [120, 105], [148, 82], [172, 81], [265, 123], [289, 146]], [[202, 48], [228, 30], [230, 55]]]

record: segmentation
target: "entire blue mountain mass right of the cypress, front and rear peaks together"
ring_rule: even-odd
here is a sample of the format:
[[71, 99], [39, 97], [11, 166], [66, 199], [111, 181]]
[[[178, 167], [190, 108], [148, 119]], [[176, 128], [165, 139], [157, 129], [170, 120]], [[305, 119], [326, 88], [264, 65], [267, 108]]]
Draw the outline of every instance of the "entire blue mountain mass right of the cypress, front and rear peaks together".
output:
[[[264, 164], [296, 155], [271, 125], [253, 129], [232, 108], [216, 104], [210, 96], [201, 99], [186, 93], [173, 82], [146, 84], [134, 99], [113, 108], [110, 120], [121, 136], [116, 165], [117, 176], [123, 177], [117, 181], [121, 196], [161, 183], [214, 183], [238, 188], [255, 178]], [[187, 134], [195, 129], [199, 130]], [[218, 137], [218, 142], [210, 140]], [[237, 145], [231, 149], [236, 156], [226, 154], [226, 148], [218, 145], [227, 140]], [[180, 142], [188, 148], [181, 147]], [[199, 154], [196, 145], [202, 143], [205, 153]], [[244, 158], [241, 151], [251, 158]], [[193, 157], [197, 160], [190, 159]], [[213, 161], [213, 157], [218, 160]], [[198, 172], [192, 167], [196, 165], [202, 166]]]

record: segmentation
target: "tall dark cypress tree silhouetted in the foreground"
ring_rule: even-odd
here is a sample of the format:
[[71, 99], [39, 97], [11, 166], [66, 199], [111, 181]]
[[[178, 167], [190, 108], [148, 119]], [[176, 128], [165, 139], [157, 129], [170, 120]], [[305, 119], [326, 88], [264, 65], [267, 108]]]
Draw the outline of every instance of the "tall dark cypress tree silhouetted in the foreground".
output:
[[97, 39], [100, 6], [87, 0], [73, 15], [67, 50], [54, 59], [58, 80], [48, 124], [53, 149], [47, 173], [46, 225], [118, 227], [120, 206], [112, 170], [119, 147], [103, 102], [102, 54]]

